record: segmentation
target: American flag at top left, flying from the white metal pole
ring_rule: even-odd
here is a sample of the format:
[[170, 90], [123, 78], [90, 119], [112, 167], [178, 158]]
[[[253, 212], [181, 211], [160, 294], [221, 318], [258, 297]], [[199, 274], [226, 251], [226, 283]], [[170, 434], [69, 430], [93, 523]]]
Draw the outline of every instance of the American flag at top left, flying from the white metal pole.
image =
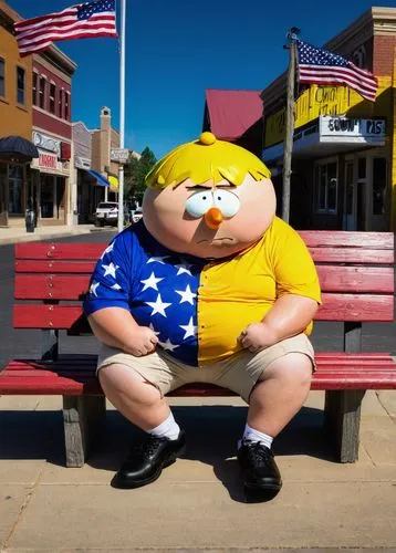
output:
[[117, 36], [115, 0], [96, 0], [15, 23], [20, 54], [41, 52], [53, 41]]

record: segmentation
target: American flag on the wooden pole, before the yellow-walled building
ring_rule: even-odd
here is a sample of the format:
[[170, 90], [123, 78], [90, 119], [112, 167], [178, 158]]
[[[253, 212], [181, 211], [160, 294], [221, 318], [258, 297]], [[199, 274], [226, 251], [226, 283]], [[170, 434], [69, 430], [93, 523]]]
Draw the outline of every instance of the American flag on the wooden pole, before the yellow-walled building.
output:
[[375, 101], [378, 88], [376, 77], [369, 71], [357, 67], [342, 55], [296, 41], [300, 83], [346, 85], [366, 100]]

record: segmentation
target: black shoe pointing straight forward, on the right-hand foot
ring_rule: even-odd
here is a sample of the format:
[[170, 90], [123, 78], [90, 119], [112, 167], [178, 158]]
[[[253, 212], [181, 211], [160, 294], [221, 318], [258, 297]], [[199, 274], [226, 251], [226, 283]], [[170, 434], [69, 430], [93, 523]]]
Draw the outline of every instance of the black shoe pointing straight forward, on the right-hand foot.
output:
[[279, 491], [282, 479], [271, 449], [259, 441], [242, 440], [238, 450], [238, 462], [243, 483], [252, 491]]

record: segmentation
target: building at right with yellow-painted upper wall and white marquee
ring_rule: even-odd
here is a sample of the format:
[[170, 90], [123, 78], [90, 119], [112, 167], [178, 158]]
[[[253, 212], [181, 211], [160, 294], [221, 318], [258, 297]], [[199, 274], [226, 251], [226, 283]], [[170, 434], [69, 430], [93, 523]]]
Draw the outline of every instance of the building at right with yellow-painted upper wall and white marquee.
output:
[[[385, 231], [396, 226], [396, 9], [372, 8], [324, 45], [372, 71], [374, 103], [346, 86], [311, 85], [294, 106], [291, 223]], [[281, 198], [286, 75], [267, 87], [263, 160]]]

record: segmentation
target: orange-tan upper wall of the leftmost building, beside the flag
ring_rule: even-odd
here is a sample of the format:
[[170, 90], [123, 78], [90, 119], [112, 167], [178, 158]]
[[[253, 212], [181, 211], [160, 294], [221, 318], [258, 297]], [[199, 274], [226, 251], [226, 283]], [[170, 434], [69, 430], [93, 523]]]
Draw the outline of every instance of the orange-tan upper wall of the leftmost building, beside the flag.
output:
[[[0, 25], [0, 58], [6, 61], [6, 96], [0, 96], [0, 138], [32, 138], [32, 60], [20, 58], [14, 36]], [[25, 71], [25, 105], [17, 103], [17, 66]]]

